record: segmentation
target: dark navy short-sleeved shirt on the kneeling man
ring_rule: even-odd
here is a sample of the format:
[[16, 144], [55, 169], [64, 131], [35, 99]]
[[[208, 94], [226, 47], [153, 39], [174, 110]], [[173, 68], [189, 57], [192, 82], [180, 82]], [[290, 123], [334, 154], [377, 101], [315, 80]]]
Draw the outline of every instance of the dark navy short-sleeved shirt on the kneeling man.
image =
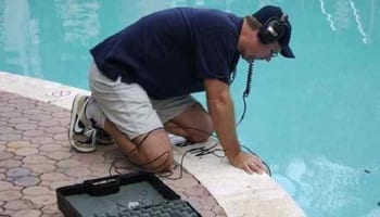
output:
[[242, 17], [176, 8], [147, 15], [90, 50], [109, 78], [138, 82], [153, 99], [204, 91], [203, 78], [229, 84], [239, 60]]

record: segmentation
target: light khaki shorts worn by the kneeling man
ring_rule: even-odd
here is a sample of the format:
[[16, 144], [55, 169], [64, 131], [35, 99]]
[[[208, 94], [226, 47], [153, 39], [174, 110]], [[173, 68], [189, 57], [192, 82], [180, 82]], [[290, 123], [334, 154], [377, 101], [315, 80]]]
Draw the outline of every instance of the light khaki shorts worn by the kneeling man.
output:
[[99, 107], [129, 139], [163, 127], [177, 115], [187, 111], [197, 100], [191, 95], [152, 100], [138, 84], [125, 84], [105, 77], [92, 64], [89, 73], [91, 94]]

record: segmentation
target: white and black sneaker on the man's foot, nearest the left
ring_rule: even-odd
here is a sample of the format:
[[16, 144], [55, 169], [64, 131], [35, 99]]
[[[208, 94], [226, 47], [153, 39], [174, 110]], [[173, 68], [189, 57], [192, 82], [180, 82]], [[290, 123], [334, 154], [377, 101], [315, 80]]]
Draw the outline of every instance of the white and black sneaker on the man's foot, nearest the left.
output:
[[91, 122], [86, 117], [86, 106], [89, 97], [77, 94], [73, 101], [72, 115], [69, 120], [68, 140], [72, 146], [78, 152], [96, 151], [96, 132]]

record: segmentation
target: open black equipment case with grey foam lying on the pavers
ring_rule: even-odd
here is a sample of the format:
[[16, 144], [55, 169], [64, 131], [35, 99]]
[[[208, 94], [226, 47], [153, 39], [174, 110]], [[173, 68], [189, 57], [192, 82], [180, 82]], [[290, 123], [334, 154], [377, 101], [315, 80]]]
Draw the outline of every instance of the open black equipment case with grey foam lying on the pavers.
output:
[[58, 188], [65, 217], [201, 216], [188, 202], [150, 173], [131, 173]]

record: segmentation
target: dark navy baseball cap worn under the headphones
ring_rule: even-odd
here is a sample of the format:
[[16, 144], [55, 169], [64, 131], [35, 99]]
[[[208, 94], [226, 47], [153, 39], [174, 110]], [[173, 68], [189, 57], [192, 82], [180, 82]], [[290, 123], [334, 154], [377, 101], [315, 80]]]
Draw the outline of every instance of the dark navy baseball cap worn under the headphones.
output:
[[[273, 20], [274, 17], [277, 17], [278, 20], [280, 20], [283, 16], [283, 14], [284, 13], [282, 12], [282, 10], [280, 8], [274, 7], [274, 5], [266, 5], [266, 7], [263, 7], [262, 9], [259, 9], [254, 14], [252, 14], [252, 16], [254, 16], [259, 23], [262, 23], [264, 25], [267, 21]], [[277, 40], [278, 43], [281, 46], [280, 53], [284, 58], [295, 58], [293, 54], [293, 51], [289, 47], [292, 26], [288, 20], [288, 16], [286, 16], [283, 22], [286, 23], [284, 33]]]

